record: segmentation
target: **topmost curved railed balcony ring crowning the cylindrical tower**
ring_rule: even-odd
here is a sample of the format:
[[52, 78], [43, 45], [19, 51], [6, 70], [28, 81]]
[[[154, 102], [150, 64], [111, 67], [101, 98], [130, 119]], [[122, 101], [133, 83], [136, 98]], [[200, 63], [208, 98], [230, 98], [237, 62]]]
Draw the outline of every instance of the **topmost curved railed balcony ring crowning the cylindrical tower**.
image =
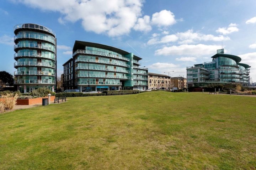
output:
[[47, 27], [44, 27], [44, 26], [41, 26], [38, 24], [27, 24], [27, 23], [26, 24], [17, 24], [16, 26], [14, 26], [14, 33], [17, 34], [18, 30], [22, 29], [22, 28], [36, 29], [36, 30], [50, 33], [55, 36], [55, 32], [50, 28], [47, 28]]

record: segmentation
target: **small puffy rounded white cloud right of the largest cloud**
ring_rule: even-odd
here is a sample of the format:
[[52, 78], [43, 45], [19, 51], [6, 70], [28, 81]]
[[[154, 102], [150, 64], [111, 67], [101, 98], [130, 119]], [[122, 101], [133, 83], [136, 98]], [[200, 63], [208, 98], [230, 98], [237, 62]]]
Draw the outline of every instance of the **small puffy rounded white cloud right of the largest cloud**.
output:
[[152, 15], [151, 23], [161, 26], [171, 26], [176, 23], [175, 15], [171, 11], [162, 10]]

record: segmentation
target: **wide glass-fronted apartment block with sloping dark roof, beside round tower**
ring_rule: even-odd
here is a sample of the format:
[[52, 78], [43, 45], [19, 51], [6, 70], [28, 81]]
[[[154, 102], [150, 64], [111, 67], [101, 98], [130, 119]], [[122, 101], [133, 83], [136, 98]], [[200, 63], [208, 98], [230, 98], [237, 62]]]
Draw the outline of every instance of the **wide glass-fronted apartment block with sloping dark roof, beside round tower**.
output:
[[115, 47], [75, 41], [73, 57], [63, 64], [64, 90], [146, 90], [148, 68], [140, 67], [139, 60]]

